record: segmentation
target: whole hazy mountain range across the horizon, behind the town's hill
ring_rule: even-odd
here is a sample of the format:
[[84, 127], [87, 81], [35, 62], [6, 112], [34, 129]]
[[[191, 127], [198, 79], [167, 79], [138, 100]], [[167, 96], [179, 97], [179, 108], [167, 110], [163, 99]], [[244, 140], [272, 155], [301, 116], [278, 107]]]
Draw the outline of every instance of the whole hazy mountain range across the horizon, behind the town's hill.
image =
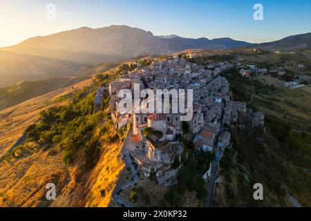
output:
[[129, 26], [77, 28], [44, 37], [32, 37], [0, 48], [0, 87], [17, 81], [72, 76], [81, 66], [120, 61], [140, 55], [166, 55], [188, 49], [256, 47], [267, 50], [310, 50], [311, 33], [264, 44], [230, 38], [191, 39], [177, 35], [155, 36]]

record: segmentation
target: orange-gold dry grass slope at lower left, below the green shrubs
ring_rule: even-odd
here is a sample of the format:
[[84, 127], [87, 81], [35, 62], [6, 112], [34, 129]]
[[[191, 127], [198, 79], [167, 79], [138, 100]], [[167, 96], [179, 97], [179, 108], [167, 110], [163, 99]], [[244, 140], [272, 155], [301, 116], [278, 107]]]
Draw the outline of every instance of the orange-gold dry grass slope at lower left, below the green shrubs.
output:
[[[108, 206], [124, 169], [121, 144], [103, 145], [95, 168], [84, 173], [66, 166], [62, 155], [39, 151], [14, 163], [0, 164], [0, 206]], [[45, 198], [46, 184], [54, 183], [57, 198]]]

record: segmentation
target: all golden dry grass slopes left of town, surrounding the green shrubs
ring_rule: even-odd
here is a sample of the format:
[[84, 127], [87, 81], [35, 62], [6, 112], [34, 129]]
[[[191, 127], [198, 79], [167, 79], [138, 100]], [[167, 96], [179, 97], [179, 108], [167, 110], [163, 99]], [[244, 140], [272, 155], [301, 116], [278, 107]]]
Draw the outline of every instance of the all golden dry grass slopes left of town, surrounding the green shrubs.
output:
[[[93, 75], [102, 73], [100, 67], [93, 70]], [[113, 73], [115, 69], [105, 74]], [[86, 166], [88, 155], [83, 146], [77, 149], [70, 164], [66, 164], [64, 151], [56, 144], [35, 148], [38, 144], [27, 141], [23, 145], [29, 149], [24, 153], [12, 148], [16, 143], [21, 144], [19, 139], [28, 126], [41, 121], [41, 111], [68, 106], [68, 100], [93, 82], [94, 78], [86, 79], [0, 111], [0, 206], [109, 206], [113, 189], [124, 171], [124, 162], [120, 155], [122, 137], [109, 138], [116, 132], [106, 120], [93, 131], [92, 137], [100, 137], [100, 154], [91, 167]], [[106, 116], [107, 112], [102, 115]], [[103, 128], [106, 133], [102, 132]], [[8, 155], [11, 160], [3, 160]], [[46, 200], [46, 184], [50, 182], [56, 186], [54, 201]]]

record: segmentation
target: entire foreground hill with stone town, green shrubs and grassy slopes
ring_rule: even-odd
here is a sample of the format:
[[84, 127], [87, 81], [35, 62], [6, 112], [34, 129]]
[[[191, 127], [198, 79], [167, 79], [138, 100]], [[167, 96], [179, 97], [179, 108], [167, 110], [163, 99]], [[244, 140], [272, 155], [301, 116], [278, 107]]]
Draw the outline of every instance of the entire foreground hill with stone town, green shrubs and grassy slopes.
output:
[[[256, 56], [253, 50], [186, 51], [178, 56], [131, 59], [107, 72], [104, 66], [95, 66], [90, 71], [93, 79], [3, 111], [2, 131], [10, 126], [21, 132], [6, 132], [6, 137], [14, 134], [20, 139], [3, 152], [1, 173], [6, 182], [1, 192], [8, 191], [6, 183], [19, 184], [17, 173], [25, 179], [29, 173], [37, 175], [32, 163], [19, 163], [35, 162], [32, 157], [40, 156], [66, 177], [57, 185], [66, 189], [72, 184], [67, 181], [78, 179], [79, 186], [70, 187], [75, 191], [59, 195], [53, 206], [290, 206], [288, 194], [308, 205], [310, 170], [308, 150], [303, 148], [310, 144], [306, 66], [292, 72], [284, 66], [282, 75], [274, 72], [282, 69], [279, 61], [267, 68], [254, 62]], [[261, 61], [263, 56], [276, 55], [261, 55]], [[291, 62], [293, 67], [308, 64]], [[242, 69], [249, 75], [242, 75]], [[290, 76], [297, 82], [303, 79], [305, 86], [284, 86]], [[193, 117], [183, 122], [180, 113], [135, 113], [133, 107], [123, 113], [118, 95], [122, 89], [133, 94], [135, 85], [151, 91], [192, 89]], [[142, 96], [140, 102], [146, 100]], [[172, 96], [168, 103], [173, 100]], [[32, 117], [23, 117], [25, 113]], [[15, 115], [22, 117], [12, 120]], [[42, 189], [46, 182], [55, 182], [50, 180], [53, 176], [46, 176], [54, 172], [46, 172], [44, 160], [40, 160]], [[85, 191], [88, 180], [92, 189]], [[257, 182], [270, 192], [264, 201], [252, 198]], [[296, 182], [303, 190], [296, 189]], [[19, 191], [23, 189], [18, 187], [0, 196], [0, 204], [23, 204]], [[50, 205], [43, 196], [41, 192], [39, 200], [26, 202]], [[85, 200], [73, 200], [80, 198]]]

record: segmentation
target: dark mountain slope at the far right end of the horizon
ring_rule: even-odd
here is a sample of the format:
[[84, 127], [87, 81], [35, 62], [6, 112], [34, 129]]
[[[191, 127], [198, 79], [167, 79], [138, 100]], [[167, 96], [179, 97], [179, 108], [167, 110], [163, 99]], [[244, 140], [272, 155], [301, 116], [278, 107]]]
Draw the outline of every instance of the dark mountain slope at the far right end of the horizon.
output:
[[311, 32], [252, 46], [265, 50], [311, 50]]

